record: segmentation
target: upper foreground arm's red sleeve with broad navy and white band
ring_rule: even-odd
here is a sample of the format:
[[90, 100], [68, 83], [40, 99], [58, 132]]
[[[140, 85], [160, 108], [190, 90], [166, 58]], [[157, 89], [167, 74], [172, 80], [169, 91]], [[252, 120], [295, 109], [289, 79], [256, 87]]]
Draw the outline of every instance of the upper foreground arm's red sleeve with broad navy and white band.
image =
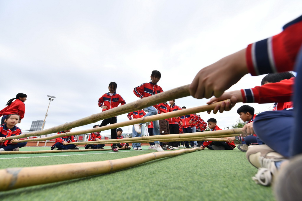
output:
[[301, 44], [302, 16], [284, 25], [280, 34], [247, 46], [249, 73], [263, 75], [293, 70]]

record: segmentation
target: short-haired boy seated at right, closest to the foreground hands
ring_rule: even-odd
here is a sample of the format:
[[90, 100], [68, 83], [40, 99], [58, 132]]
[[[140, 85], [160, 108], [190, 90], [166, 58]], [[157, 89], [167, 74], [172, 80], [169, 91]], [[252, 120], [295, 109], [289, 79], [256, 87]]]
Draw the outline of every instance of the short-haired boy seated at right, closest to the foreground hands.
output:
[[[249, 105], [243, 105], [237, 109], [237, 113], [239, 114], [239, 117], [242, 121], [251, 123], [254, 121], [255, 116], [255, 109]], [[257, 139], [259, 142], [257, 142]], [[256, 134], [248, 135], [248, 136], [236, 136], [236, 137], [228, 137], [227, 142], [233, 142], [234, 140], [241, 140], [242, 144], [238, 145], [237, 148], [242, 151], [246, 152], [247, 147], [249, 145], [259, 145], [262, 144], [262, 141], [257, 138]]]

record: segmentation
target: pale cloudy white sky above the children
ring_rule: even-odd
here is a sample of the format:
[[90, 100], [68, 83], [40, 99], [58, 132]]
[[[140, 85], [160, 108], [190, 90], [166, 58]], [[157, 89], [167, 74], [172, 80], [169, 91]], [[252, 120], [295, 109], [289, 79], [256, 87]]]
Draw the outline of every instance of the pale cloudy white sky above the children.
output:
[[[278, 34], [301, 11], [299, 0], [0, 1], [0, 105], [27, 94], [18, 126], [30, 129], [33, 120], [44, 120], [47, 95], [55, 96], [45, 129], [58, 126], [101, 112], [98, 98], [111, 81], [127, 103], [138, 99], [133, 88], [149, 82], [153, 70], [162, 73], [158, 85], [164, 91], [190, 84], [200, 69]], [[246, 75], [230, 90], [253, 88], [263, 76]], [[188, 108], [207, 100], [175, 102]], [[239, 120], [241, 105], [200, 115], [216, 118], [223, 129]], [[271, 106], [250, 105], [255, 112]], [[126, 120], [127, 114], [117, 117]], [[128, 128], [132, 132], [132, 126], [124, 132]]]

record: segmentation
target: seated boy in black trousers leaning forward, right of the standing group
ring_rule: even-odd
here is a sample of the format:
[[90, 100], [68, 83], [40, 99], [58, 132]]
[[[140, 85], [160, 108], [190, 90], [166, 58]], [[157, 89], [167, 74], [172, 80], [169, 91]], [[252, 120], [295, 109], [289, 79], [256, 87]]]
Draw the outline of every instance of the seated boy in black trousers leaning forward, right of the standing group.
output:
[[[207, 120], [208, 123], [208, 127], [209, 129], [211, 129], [211, 131], [214, 130], [222, 130], [220, 129], [216, 124], [217, 124], [217, 120], [214, 118], [210, 118], [209, 120]], [[234, 142], [215, 142], [215, 141], [205, 141], [204, 143], [202, 143], [200, 148], [209, 148], [212, 150], [233, 150], [236, 146], [234, 144]]]

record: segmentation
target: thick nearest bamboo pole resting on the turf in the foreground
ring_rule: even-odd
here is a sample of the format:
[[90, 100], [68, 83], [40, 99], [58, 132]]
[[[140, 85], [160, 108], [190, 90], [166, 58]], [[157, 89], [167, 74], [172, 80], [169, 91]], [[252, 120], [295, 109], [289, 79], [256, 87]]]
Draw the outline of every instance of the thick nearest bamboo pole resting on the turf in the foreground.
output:
[[21, 187], [53, 183], [70, 179], [105, 174], [130, 168], [159, 158], [181, 155], [202, 150], [201, 148], [180, 149], [177, 151], [152, 152], [108, 161], [47, 165], [0, 170], [0, 191]]

